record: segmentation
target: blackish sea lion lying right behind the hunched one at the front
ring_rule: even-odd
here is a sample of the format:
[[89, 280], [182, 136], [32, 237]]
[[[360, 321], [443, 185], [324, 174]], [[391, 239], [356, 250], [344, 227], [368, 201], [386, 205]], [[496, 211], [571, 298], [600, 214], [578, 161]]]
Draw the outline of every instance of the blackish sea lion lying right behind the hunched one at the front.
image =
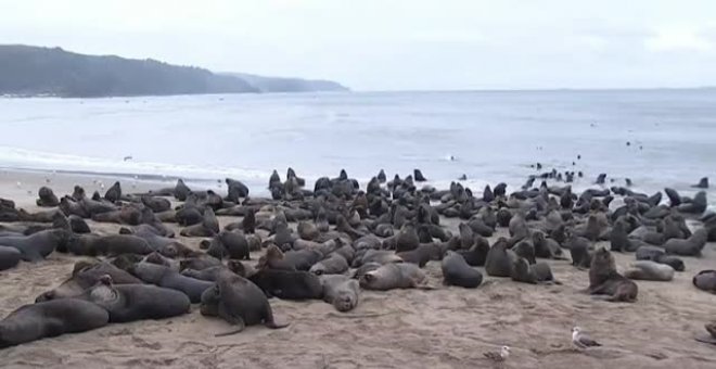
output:
[[319, 300], [323, 288], [318, 276], [302, 270], [259, 269], [248, 278], [268, 297], [281, 300]]

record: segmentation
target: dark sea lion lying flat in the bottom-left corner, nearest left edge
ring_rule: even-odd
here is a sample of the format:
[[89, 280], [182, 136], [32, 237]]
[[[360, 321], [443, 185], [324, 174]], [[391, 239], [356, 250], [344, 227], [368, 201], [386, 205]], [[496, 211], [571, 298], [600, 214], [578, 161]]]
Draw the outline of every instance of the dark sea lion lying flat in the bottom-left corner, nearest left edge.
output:
[[0, 321], [0, 348], [85, 332], [108, 322], [104, 308], [82, 300], [62, 298], [24, 305]]

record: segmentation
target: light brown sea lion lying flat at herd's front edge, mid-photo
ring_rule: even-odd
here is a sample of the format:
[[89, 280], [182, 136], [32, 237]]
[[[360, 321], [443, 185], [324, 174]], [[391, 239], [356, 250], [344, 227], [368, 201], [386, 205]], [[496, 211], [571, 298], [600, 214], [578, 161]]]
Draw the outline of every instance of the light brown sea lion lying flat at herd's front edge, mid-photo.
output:
[[411, 263], [389, 263], [365, 272], [360, 287], [366, 290], [388, 291], [393, 289], [414, 289], [426, 281], [425, 273]]

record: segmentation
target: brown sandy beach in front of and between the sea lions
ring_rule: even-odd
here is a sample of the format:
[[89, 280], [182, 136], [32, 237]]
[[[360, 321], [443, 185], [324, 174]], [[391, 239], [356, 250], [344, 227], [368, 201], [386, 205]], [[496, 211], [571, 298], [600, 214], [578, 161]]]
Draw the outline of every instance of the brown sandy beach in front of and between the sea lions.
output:
[[[74, 183], [90, 193], [99, 189], [92, 177], [3, 171], [0, 196], [36, 209], [36, 192], [46, 178], [51, 178], [50, 186], [59, 195], [71, 193]], [[107, 178], [103, 181], [111, 183]], [[131, 192], [129, 183], [124, 183], [124, 190]], [[136, 190], [148, 186], [138, 182]], [[455, 226], [450, 222], [457, 231]], [[112, 233], [119, 226], [90, 222], [90, 227]], [[200, 239], [182, 241], [197, 247]], [[634, 260], [634, 254], [616, 257], [622, 269]], [[44, 262], [21, 262], [0, 272], [0, 316], [56, 287], [69, 276], [76, 259], [53, 253]], [[226, 323], [203, 317], [194, 305], [191, 314], [179, 318], [114, 323], [2, 349], [0, 367], [716, 368], [716, 346], [693, 341], [694, 334], [705, 332], [704, 322], [716, 319], [716, 295], [691, 284], [699, 270], [716, 269], [713, 244], [706, 246], [703, 258], [687, 257], [687, 271], [677, 272], [672, 282], [638, 281], [635, 304], [593, 301], [579, 292], [588, 284], [586, 271], [567, 262], [550, 264], [563, 285], [529, 285], [485, 276], [475, 290], [446, 288], [439, 264], [431, 262], [426, 270], [437, 290], [363, 291], [350, 315], [382, 314], [375, 317], [337, 317], [331, 305], [320, 301], [273, 298], [277, 319], [291, 327], [257, 326], [215, 338], [214, 333], [226, 331]], [[572, 349], [575, 325], [604, 347]], [[484, 359], [483, 353], [501, 345], [512, 347], [508, 362]]]

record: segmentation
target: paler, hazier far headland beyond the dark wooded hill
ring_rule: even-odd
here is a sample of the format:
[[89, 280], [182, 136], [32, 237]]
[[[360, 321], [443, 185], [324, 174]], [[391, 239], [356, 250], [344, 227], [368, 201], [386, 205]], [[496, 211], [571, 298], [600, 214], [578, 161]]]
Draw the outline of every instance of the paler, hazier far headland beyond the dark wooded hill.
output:
[[348, 91], [338, 82], [321, 79], [301, 79], [282, 77], [263, 77], [246, 73], [223, 73], [226, 76], [239, 77], [260, 92], [315, 92], [315, 91]]

